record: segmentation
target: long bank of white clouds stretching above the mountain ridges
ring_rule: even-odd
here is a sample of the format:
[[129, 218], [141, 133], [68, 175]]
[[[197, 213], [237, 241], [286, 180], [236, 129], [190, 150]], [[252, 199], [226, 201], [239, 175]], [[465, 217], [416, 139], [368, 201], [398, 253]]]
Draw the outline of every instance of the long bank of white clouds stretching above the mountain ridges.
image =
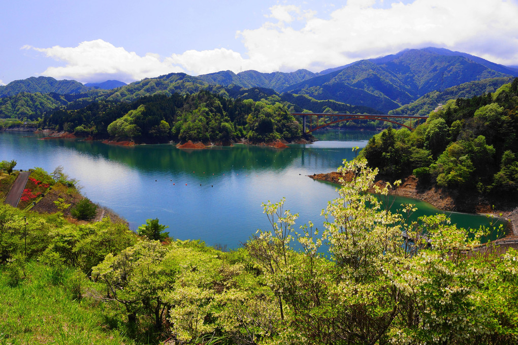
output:
[[376, 3], [349, 0], [330, 12], [328, 19], [295, 5], [272, 6], [261, 27], [237, 32], [246, 56], [225, 48], [139, 56], [102, 39], [77, 47], [23, 49], [35, 49], [65, 63], [47, 68], [43, 75], [80, 81], [133, 81], [179, 71], [191, 75], [227, 69], [236, 73], [246, 69], [319, 71], [428, 46], [518, 65], [518, 4], [514, 0], [415, 0], [384, 8]]

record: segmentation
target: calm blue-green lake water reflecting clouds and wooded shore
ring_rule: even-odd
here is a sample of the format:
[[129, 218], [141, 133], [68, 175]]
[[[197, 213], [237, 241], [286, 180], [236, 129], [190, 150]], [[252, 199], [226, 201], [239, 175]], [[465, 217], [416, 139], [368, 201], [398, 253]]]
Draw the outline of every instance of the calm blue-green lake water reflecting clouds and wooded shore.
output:
[[[299, 213], [295, 229], [312, 221], [323, 229], [322, 209], [338, 196], [336, 185], [308, 175], [335, 171], [353, 159], [375, 132], [327, 131], [310, 145], [286, 149], [235, 145], [181, 150], [174, 145], [121, 147], [100, 141], [38, 140], [27, 132], [0, 132], [0, 161], [16, 169], [61, 165], [76, 178], [92, 202], [108, 207], [132, 229], [158, 218], [177, 239], [237, 248], [258, 228], [271, 229], [262, 203], [286, 198], [285, 208]], [[395, 205], [416, 204], [414, 219], [442, 211], [420, 200], [397, 197]], [[452, 223], [479, 228], [481, 215], [452, 213]]]

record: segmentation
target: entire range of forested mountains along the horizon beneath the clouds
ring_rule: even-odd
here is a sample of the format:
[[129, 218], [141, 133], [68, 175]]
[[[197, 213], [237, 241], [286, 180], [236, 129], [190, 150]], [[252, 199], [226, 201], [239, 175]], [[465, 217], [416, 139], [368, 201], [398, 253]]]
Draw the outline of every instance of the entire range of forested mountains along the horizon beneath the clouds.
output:
[[[113, 80], [83, 85], [74, 80], [58, 81], [50, 77], [31, 77], [1, 86], [0, 97], [12, 97], [21, 92], [85, 93], [95, 99], [100, 97], [116, 102], [131, 102], [157, 92], [194, 93], [210, 89], [230, 96], [231, 93], [239, 93], [241, 89], [260, 88], [263, 92], [269, 90], [266, 93], [270, 95], [284, 95], [283, 98], [297, 99], [294, 95], [306, 95], [314, 100], [334, 100], [387, 113], [391, 110], [396, 112], [394, 109], [416, 102], [431, 92], [441, 93], [466, 83], [468, 84], [464, 88], [473, 87], [475, 92], [487, 92], [486, 90], [492, 90], [493, 87], [498, 87], [499, 83], [508, 82], [512, 77], [518, 77], [518, 69], [515, 67], [506, 67], [478, 56], [443, 48], [424, 48], [361, 60], [320, 73], [305, 69], [291, 73], [260, 73], [247, 70], [238, 74], [226, 70], [200, 76], [171, 73], [127, 85]], [[492, 80], [489, 82], [489, 89], [476, 87], [477, 83], [469, 84], [486, 79]], [[93, 89], [97, 89], [97, 92], [89, 94]], [[426, 109], [429, 107], [431, 106]]]

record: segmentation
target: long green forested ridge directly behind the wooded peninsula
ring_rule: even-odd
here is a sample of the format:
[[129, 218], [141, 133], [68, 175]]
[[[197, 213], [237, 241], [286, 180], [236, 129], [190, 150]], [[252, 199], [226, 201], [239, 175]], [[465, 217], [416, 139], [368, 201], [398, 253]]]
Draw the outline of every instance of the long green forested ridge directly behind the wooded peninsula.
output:
[[[35, 121], [45, 113], [52, 113], [58, 108], [62, 110], [78, 110], [94, 102], [131, 103], [139, 97], [163, 94], [172, 96], [176, 89], [189, 88], [192, 93], [202, 90], [232, 99], [251, 99], [258, 102], [269, 99], [269, 102], [279, 102], [291, 112], [348, 112], [373, 113], [375, 109], [363, 106], [351, 106], [334, 100], [316, 100], [307, 95], [279, 94], [275, 90], [266, 88], [244, 89], [238, 86], [224, 88], [221, 85], [207, 85], [193, 83], [199, 81], [185, 74], [171, 74], [160, 78], [145, 79], [132, 84], [134, 89], [90, 90], [81, 94], [60, 95], [56, 93], [20, 93], [15, 96], [0, 98], [0, 118], [26, 119]], [[138, 90], [138, 91], [135, 91]], [[129, 92], [128, 92], [129, 91]], [[172, 93], [171, 93], [172, 92]], [[137, 97], [139, 96], [139, 97]], [[75, 127], [74, 127], [75, 128]]]

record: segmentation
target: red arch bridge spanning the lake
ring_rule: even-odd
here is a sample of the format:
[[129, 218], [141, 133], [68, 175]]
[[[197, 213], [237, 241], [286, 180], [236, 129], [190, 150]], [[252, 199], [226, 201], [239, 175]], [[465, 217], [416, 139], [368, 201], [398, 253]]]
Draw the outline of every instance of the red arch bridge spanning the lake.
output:
[[[320, 130], [325, 126], [350, 120], [370, 120], [370, 121], [384, 121], [397, 124], [399, 126], [407, 127], [410, 131], [414, 130], [419, 125], [419, 121], [428, 119], [427, 116], [411, 116], [411, 115], [384, 115], [384, 114], [329, 114], [329, 113], [303, 113], [303, 112], [292, 112], [292, 115], [298, 115], [302, 117], [302, 128], [303, 133], [311, 133], [316, 130]], [[307, 129], [307, 118], [310, 117], [310, 128]], [[316, 116], [316, 125], [313, 127], [313, 117]], [[323, 124], [319, 123], [319, 117], [327, 117], [332, 120]], [[338, 119], [336, 119], [338, 118]], [[397, 122], [398, 119], [410, 119], [410, 125], [402, 124]], [[415, 120], [415, 122], [413, 122]], [[424, 122], [423, 121], [423, 122]]]

